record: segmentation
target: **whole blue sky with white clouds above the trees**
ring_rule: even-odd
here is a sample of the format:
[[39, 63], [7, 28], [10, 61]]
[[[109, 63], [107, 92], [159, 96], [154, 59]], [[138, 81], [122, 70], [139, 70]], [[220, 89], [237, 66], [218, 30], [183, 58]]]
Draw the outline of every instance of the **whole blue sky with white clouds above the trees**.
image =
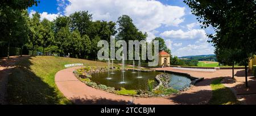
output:
[[205, 36], [213, 29], [201, 29], [182, 0], [43, 0], [37, 7], [28, 8], [30, 15], [38, 11], [42, 19], [49, 20], [81, 10], [93, 14], [93, 20], [115, 22], [119, 16], [129, 15], [141, 31], [148, 33], [148, 40], [164, 38], [172, 55], [178, 57], [214, 51]]

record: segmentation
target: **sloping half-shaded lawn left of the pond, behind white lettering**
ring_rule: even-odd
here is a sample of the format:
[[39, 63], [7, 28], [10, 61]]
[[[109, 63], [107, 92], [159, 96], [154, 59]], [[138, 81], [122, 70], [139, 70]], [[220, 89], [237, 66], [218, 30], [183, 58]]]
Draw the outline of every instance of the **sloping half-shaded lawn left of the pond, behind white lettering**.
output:
[[[17, 63], [7, 85], [9, 104], [72, 104], [57, 89], [55, 74], [69, 63], [108, 66], [107, 63], [62, 57], [30, 57]], [[114, 65], [119, 67], [119, 65]]]

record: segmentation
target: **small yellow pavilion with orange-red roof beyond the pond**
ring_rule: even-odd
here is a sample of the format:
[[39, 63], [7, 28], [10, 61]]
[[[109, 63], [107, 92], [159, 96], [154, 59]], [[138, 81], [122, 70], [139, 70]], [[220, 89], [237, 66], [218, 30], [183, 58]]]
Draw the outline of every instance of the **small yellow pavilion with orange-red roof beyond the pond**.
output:
[[159, 52], [159, 66], [167, 67], [170, 66], [170, 57], [171, 55], [168, 54], [166, 51], [160, 51]]

